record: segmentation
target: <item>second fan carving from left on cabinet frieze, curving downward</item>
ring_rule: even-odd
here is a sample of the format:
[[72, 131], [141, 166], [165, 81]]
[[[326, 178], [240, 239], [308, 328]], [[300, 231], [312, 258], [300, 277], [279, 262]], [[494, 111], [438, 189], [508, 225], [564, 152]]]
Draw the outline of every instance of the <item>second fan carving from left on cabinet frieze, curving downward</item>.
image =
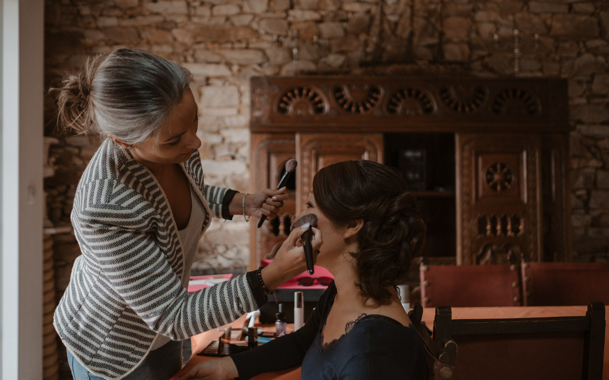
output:
[[334, 102], [350, 114], [365, 114], [378, 105], [381, 88], [375, 85], [339, 85], [331, 91]]

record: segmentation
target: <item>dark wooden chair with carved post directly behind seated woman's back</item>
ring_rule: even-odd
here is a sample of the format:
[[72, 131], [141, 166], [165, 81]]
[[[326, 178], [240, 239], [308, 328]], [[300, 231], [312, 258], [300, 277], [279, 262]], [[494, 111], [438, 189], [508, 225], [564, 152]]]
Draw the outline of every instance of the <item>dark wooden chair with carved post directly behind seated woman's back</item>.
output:
[[408, 312], [412, 325], [423, 339], [427, 351], [427, 369], [429, 380], [451, 379], [454, 374], [455, 359], [457, 357], [457, 345], [452, 340], [438, 344], [431, 339], [427, 330], [421, 325], [423, 307], [415, 303], [413, 309]]

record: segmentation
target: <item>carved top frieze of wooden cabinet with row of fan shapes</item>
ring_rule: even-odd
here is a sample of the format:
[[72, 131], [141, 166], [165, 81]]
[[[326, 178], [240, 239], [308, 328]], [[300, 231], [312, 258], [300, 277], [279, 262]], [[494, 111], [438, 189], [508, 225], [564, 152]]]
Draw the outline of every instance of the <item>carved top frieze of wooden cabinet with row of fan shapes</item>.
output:
[[255, 132], [569, 130], [566, 81], [473, 77], [253, 77]]

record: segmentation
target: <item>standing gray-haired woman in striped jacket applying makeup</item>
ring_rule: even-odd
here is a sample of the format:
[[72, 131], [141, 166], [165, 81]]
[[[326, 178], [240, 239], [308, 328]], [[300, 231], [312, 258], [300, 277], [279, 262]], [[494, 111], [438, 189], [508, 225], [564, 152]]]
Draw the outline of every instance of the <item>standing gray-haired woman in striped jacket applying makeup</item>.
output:
[[258, 309], [306, 268], [297, 229], [266, 268], [186, 291], [212, 217], [272, 219], [287, 199], [284, 188], [248, 195], [203, 183], [191, 78], [174, 61], [118, 49], [56, 89], [63, 125], [104, 139], [74, 197], [82, 255], [54, 316], [75, 380], [169, 379], [179, 340]]

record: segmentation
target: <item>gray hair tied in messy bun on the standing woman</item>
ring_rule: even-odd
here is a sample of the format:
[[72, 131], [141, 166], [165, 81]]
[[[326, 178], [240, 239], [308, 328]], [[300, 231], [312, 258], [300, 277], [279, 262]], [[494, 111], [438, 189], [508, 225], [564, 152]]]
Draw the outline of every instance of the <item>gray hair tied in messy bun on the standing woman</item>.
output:
[[192, 79], [184, 66], [140, 49], [116, 49], [87, 59], [58, 91], [58, 119], [78, 134], [127, 143], [157, 134]]

